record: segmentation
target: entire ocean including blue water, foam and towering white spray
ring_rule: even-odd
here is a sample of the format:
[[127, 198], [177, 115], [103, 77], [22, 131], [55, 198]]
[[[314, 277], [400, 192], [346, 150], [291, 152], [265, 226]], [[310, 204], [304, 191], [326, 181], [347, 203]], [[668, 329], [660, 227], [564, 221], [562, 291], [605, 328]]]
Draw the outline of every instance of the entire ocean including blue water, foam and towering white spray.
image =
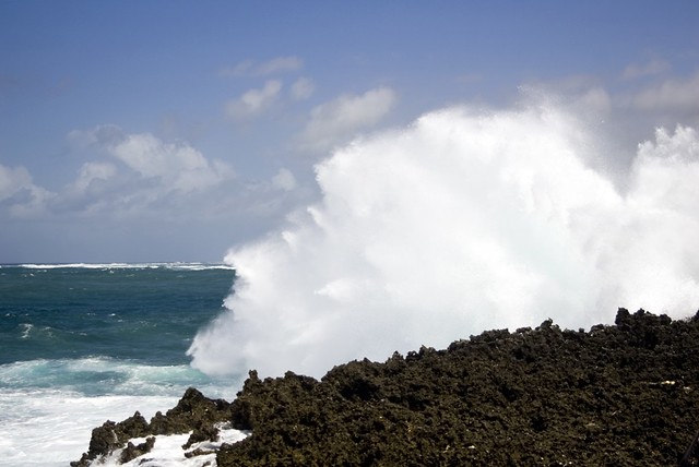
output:
[[225, 265], [2, 266], [0, 463], [64, 466], [106, 419], [188, 386], [230, 400], [250, 369], [694, 315], [699, 134], [657, 129], [616, 173], [594, 129], [548, 103], [442, 109], [319, 161], [319, 197]]

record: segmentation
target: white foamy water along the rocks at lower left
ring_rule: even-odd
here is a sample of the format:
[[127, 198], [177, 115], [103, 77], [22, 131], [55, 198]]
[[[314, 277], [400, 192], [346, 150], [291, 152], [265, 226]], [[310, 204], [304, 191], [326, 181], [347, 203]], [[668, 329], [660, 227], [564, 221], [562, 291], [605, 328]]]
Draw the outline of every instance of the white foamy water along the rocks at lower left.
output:
[[[212, 381], [188, 366], [105, 358], [2, 364], [0, 381], [0, 465], [36, 467], [68, 466], [87, 451], [93, 428], [137, 410], [150, 420], [175, 407], [190, 385], [229, 400], [239, 387], [238, 381]], [[171, 447], [168, 440], [156, 441], [158, 450]], [[181, 450], [162, 458], [178, 455], [183, 458]]]

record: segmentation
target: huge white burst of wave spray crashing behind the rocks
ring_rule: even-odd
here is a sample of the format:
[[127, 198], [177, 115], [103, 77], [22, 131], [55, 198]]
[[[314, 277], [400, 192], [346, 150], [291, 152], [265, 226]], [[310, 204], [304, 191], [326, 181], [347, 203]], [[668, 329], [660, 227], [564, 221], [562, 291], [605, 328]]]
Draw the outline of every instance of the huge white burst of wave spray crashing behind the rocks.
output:
[[[699, 140], [659, 129], [614, 155], [554, 106], [449, 108], [317, 165], [322, 199], [232, 250], [228, 309], [189, 349], [208, 373], [320, 376], [485, 330], [699, 308]], [[595, 161], [595, 164], [591, 164]]]

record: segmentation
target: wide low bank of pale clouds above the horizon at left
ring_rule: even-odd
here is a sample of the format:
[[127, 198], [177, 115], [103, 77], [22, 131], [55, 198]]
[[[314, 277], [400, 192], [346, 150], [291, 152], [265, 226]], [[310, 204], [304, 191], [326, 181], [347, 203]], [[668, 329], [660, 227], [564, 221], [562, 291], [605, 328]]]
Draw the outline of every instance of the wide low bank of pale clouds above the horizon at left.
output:
[[261, 219], [281, 217], [304, 195], [286, 168], [248, 181], [230, 164], [208, 158], [187, 142], [165, 142], [147, 132], [127, 133], [106, 124], [74, 130], [68, 140], [88, 160], [55, 192], [36, 185], [25, 167], [0, 165], [1, 217]]

